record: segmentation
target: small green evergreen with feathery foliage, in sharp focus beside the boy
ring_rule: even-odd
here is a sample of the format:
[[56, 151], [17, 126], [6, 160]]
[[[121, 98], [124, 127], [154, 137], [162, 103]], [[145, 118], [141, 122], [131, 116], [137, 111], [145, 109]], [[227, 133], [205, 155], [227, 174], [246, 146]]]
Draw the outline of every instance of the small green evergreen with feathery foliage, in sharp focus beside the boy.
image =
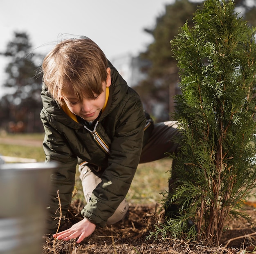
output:
[[256, 30], [234, 3], [206, 0], [171, 41], [180, 68], [175, 120], [182, 138], [176, 158], [178, 185], [165, 202], [180, 203], [180, 217], [156, 226], [155, 237], [184, 235], [218, 243], [229, 216], [256, 187]]

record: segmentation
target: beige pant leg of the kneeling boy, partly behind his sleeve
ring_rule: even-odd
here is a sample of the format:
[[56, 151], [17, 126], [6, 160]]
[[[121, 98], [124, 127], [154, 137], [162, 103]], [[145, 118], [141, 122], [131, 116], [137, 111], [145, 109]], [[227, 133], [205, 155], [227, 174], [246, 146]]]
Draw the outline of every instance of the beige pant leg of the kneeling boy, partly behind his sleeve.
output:
[[[84, 166], [84, 164], [79, 166], [79, 172], [83, 186], [83, 194], [86, 202], [89, 203], [92, 192], [101, 182], [101, 178], [94, 174], [88, 166]], [[112, 225], [123, 219], [128, 211], [128, 208], [128, 202], [126, 199], [124, 199], [118, 206], [117, 210], [115, 210], [114, 214], [108, 218], [107, 224]]]

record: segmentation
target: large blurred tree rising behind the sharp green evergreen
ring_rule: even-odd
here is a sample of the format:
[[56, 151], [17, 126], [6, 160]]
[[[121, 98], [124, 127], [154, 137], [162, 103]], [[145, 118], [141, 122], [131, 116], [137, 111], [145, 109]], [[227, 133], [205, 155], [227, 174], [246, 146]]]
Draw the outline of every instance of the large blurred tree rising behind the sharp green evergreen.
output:
[[[256, 1], [235, 0], [236, 10], [243, 15], [249, 25], [256, 25]], [[177, 61], [170, 50], [170, 41], [178, 34], [180, 27], [187, 21], [192, 26], [193, 13], [202, 7], [202, 1], [175, 0], [166, 5], [165, 13], [156, 20], [153, 29], [145, 32], [153, 36], [153, 42], [140, 54], [151, 64], [142, 71], [147, 78], [135, 90], [141, 96], [145, 109], [155, 116], [155, 121], [167, 121], [169, 113], [175, 108], [173, 96], [180, 93], [178, 85]]]

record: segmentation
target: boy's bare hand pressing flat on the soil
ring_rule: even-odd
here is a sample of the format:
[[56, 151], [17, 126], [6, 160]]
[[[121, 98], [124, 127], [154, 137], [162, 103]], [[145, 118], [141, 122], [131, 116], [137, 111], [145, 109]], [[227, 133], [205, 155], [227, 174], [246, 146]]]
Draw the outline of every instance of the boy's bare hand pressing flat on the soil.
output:
[[78, 238], [76, 243], [81, 243], [85, 237], [90, 236], [90, 234], [94, 232], [95, 228], [95, 224], [84, 218], [69, 229], [59, 232], [58, 234], [54, 234], [53, 237], [64, 241]]

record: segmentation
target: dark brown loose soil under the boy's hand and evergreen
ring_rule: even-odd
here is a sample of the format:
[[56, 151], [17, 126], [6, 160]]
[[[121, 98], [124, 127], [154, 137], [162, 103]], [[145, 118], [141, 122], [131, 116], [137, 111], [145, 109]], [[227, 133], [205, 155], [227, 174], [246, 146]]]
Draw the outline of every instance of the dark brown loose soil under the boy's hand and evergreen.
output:
[[[74, 201], [67, 214], [67, 227], [82, 219], [79, 200]], [[163, 221], [164, 211], [156, 205], [130, 205], [126, 218], [112, 226], [97, 228], [77, 244], [75, 240], [60, 241], [46, 235], [42, 254], [245, 254], [256, 253], [256, 211], [245, 205], [243, 212], [252, 223], [233, 219], [227, 225], [219, 245], [186, 242], [179, 239], [146, 240], [154, 225]], [[61, 229], [63, 230], [63, 228]], [[228, 244], [227, 244], [228, 243]], [[255, 249], [255, 250], [254, 250]]]

